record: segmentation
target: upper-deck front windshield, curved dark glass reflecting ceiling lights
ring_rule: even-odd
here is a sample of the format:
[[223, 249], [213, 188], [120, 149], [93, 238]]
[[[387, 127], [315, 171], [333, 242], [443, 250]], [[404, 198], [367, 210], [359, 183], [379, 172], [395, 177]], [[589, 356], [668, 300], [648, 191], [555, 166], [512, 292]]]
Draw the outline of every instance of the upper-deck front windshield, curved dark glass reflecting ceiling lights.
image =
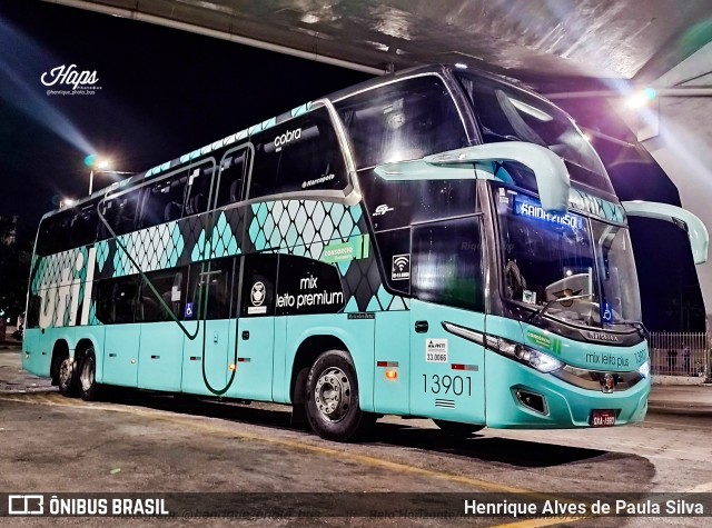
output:
[[546, 147], [561, 156], [573, 181], [615, 193], [599, 155], [564, 111], [502, 82], [468, 73], [458, 77], [485, 143], [526, 141]]

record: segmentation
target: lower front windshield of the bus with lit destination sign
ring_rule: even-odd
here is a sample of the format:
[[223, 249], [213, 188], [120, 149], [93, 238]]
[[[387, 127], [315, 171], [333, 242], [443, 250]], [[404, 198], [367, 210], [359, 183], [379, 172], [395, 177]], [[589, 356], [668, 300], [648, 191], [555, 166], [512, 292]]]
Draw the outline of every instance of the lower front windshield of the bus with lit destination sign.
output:
[[548, 317], [607, 328], [641, 320], [627, 229], [582, 215], [551, 215], [538, 200], [495, 187], [506, 299]]

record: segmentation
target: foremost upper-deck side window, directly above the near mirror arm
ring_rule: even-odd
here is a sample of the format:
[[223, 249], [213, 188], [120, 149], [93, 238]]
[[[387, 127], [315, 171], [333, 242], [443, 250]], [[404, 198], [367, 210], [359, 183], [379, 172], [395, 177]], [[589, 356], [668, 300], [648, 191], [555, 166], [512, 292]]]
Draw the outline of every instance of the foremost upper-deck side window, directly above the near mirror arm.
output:
[[358, 168], [458, 149], [467, 137], [439, 78], [424, 76], [349, 97], [336, 104]]

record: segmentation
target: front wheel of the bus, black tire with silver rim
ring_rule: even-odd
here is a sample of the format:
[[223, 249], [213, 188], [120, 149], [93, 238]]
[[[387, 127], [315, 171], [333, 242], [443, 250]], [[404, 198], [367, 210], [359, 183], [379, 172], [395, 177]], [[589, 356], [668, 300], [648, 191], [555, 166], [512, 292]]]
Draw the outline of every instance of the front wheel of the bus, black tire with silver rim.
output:
[[363, 435], [375, 415], [358, 408], [358, 381], [350, 356], [329, 350], [319, 356], [307, 376], [306, 414], [322, 438], [347, 441]]

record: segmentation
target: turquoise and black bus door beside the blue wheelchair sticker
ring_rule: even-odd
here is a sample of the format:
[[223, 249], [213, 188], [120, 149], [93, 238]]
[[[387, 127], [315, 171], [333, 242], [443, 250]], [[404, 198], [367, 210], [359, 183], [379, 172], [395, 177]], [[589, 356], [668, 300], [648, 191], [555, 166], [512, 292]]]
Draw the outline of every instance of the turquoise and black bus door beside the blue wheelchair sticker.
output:
[[233, 360], [235, 323], [230, 319], [235, 258], [219, 259], [190, 267], [189, 296], [184, 316], [187, 336], [184, 346], [184, 392], [224, 393]]

